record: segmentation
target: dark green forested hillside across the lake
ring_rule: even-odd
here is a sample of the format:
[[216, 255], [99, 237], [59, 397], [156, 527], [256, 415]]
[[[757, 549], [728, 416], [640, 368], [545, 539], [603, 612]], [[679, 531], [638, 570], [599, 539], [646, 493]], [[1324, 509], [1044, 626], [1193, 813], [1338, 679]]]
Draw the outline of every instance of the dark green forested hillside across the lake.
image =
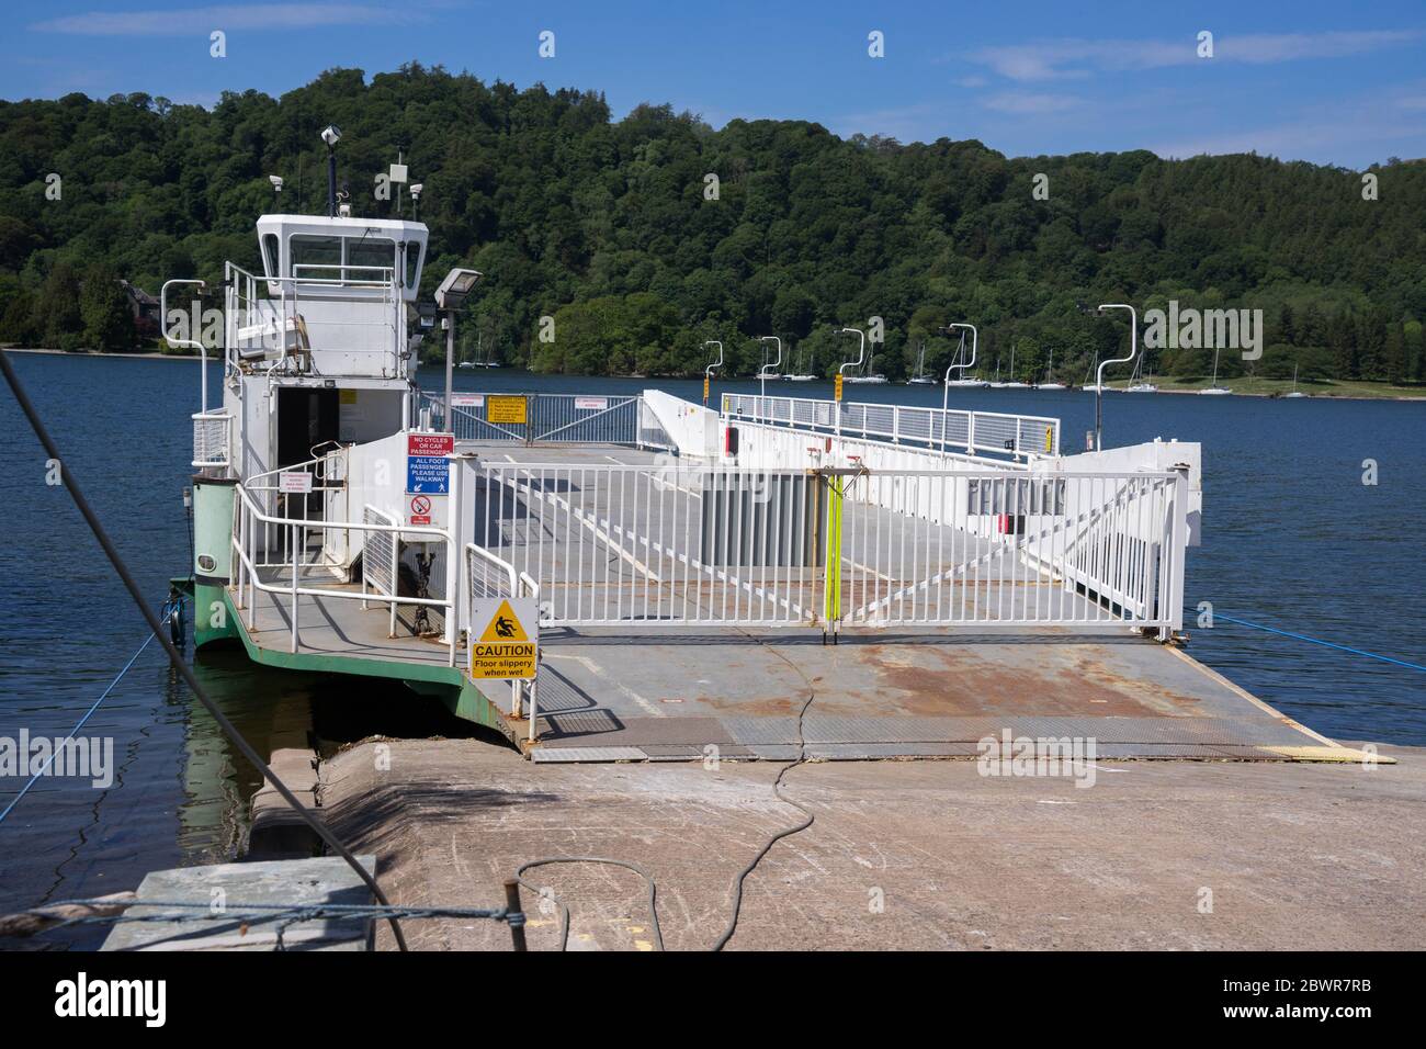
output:
[[[257, 267], [254, 218], [322, 211], [327, 123], [344, 133], [354, 213], [389, 216], [374, 178], [402, 150], [425, 187], [424, 297], [456, 263], [486, 274], [461, 330], [545, 371], [686, 374], [704, 338], [736, 370], [777, 334], [834, 370], [886, 324], [877, 370], [897, 377], [935, 330], [981, 325], [981, 360], [1008, 377], [1085, 378], [1124, 345], [1122, 320], [1077, 303], [1236, 305], [1266, 317], [1266, 353], [1224, 374], [1420, 381], [1426, 368], [1426, 163], [1362, 173], [1256, 156], [1151, 153], [1007, 158], [978, 141], [843, 140], [819, 124], [734, 120], [722, 131], [667, 106], [612, 120], [595, 91], [526, 90], [408, 66], [369, 81], [332, 70], [272, 98], [211, 110], [143, 94], [0, 103], [0, 340], [125, 341], [110, 288]], [[1037, 173], [1048, 200], [1032, 197]], [[61, 198], [47, 198], [47, 176]], [[717, 176], [709, 200], [707, 176]], [[409, 201], [406, 203], [409, 216]], [[83, 288], [83, 293], [81, 293]], [[555, 318], [552, 343], [539, 340]], [[1201, 375], [1205, 350], [1164, 350], [1161, 374]]]

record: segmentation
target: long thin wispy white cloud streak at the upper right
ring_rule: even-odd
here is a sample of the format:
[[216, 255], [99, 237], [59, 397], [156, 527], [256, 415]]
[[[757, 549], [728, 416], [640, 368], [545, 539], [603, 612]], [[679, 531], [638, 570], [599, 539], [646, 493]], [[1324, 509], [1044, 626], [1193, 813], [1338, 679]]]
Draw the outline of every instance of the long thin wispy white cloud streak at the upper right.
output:
[[1040, 40], [1007, 47], [983, 47], [973, 61], [1010, 80], [1060, 80], [1097, 71], [1149, 70], [1196, 61], [1269, 64], [1299, 59], [1340, 59], [1366, 54], [1417, 39], [1415, 30], [1359, 30], [1216, 36], [1214, 59], [1198, 57], [1196, 36], [1182, 40]]

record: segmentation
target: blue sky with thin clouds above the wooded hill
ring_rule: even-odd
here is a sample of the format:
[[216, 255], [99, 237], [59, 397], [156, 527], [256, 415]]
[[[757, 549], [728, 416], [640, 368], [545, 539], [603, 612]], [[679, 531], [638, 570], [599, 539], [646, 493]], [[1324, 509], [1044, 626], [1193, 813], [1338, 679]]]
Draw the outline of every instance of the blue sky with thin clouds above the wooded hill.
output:
[[[1426, 156], [1426, 6], [1263, 3], [201, 4], [10, 7], [0, 97], [147, 91], [212, 104], [324, 69], [416, 59], [525, 87], [606, 93], [616, 116], [669, 101], [816, 120], [901, 141], [980, 138], [1010, 156], [1149, 148], [1363, 167]], [[210, 33], [227, 57], [210, 57]], [[538, 54], [542, 30], [555, 57]], [[886, 57], [867, 36], [884, 34]], [[1196, 56], [1199, 31], [1214, 57]]]

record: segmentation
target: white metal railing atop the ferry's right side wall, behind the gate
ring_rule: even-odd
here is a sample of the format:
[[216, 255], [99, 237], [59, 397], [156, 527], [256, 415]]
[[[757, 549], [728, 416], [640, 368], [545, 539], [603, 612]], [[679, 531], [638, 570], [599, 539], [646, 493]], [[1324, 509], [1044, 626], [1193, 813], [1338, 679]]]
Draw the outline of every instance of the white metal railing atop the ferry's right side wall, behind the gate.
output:
[[847, 401], [841, 401], [838, 408], [837, 401], [756, 394], [723, 394], [722, 414], [729, 421], [884, 438], [893, 444], [964, 450], [971, 455], [1028, 458], [1060, 454], [1060, 420], [1045, 415]]

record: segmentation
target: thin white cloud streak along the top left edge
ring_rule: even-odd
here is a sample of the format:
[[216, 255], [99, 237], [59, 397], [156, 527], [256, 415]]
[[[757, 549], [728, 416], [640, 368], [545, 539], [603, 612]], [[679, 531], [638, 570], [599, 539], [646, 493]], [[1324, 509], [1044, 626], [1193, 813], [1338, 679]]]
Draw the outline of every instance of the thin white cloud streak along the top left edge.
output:
[[37, 33], [71, 36], [188, 36], [215, 29], [314, 29], [321, 26], [371, 26], [409, 20], [412, 13], [399, 7], [362, 4], [221, 4], [148, 11], [88, 11], [48, 19], [30, 26]]

